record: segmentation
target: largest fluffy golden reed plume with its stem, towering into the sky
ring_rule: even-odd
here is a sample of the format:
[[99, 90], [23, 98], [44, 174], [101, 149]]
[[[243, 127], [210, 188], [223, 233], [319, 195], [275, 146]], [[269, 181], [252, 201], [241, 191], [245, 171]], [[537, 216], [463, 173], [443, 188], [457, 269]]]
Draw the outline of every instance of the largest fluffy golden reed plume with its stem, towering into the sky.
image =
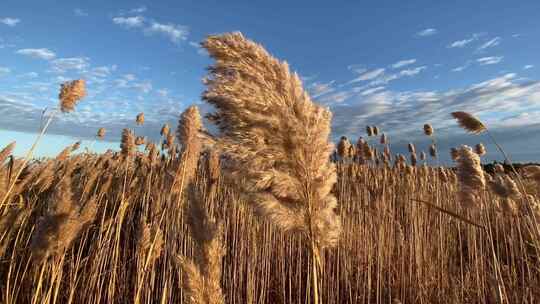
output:
[[308, 237], [318, 303], [319, 249], [336, 245], [341, 232], [330, 193], [331, 113], [311, 101], [286, 63], [242, 34], [211, 36], [202, 46], [216, 60], [203, 99], [216, 108], [209, 119], [222, 132], [227, 169], [246, 177], [242, 188], [258, 214]]

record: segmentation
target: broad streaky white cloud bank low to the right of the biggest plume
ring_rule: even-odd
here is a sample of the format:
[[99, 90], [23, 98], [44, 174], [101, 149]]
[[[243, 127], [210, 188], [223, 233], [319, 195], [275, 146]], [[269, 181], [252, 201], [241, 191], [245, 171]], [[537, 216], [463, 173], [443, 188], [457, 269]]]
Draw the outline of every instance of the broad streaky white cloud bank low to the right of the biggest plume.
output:
[[334, 135], [358, 135], [366, 124], [376, 124], [384, 130], [392, 130], [391, 136], [421, 136], [421, 125], [425, 122], [437, 126], [440, 134], [449, 134], [457, 131], [449, 116], [452, 111], [466, 109], [494, 128], [505, 125], [500, 118], [540, 111], [540, 82], [520, 82], [515, 74], [443, 92], [393, 92], [379, 88], [372, 91], [351, 94], [340, 103], [330, 105], [334, 113]]

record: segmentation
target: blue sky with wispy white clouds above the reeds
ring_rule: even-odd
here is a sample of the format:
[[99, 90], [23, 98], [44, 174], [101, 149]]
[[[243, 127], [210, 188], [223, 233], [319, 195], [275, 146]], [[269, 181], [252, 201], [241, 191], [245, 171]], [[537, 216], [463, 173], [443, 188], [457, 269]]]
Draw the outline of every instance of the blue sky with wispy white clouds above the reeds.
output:
[[[476, 143], [449, 113], [478, 115], [517, 160], [540, 157], [540, 2], [520, 1], [24, 1], [0, 4], [0, 146], [22, 154], [59, 84], [89, 96], [51, 126], [38, 155], [84, 140], [117, 147], [122, 128], [154, 139], [200, 103], [209, 34], [241, 31], [289, 62], [334, 112], [333, 136], [376, 124], [399, 150]], [[207, 110], [205, 105], [201, 105]], [[92, 144], [97, 128], [109, 143]], [[21, 132], [29, 133], [22, 136]], [[518, 141], [519, 139], [519, 141]], [[488, 159], [497, 157], [488, 145]], [[447, 153], [445, 153], [447, 154]]]

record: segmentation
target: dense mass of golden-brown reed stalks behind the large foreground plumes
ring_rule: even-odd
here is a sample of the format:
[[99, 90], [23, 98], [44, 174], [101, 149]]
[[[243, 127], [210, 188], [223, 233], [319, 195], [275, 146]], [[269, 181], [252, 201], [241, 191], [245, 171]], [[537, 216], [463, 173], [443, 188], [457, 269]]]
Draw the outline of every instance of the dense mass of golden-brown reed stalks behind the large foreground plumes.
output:
[[[140, 290], [140, 303], [183, 303], [177, 257], [197, 246], [185, 213], [193, 199], [170, 191], [178, 159], [107, 153], [31, 162], [2, 206], [2, 302], [126, 303]], [[3, 181], [17, 165], [3, 165]], [[223, 226], [225, 302], [309, 302], [309, 242], [256, 218], [210, 165], [203, 154], [191, 187]], [[323, 303], [495, 303], [497, 282], [507, 302], [539, 301], [538, 248], [523, 200], [509, 208], [486, 189], [478, 207], [464, 209], [449, 169], [349, 163], [337, 172], [343, 235], [321, 254]], [[482, 228], [419, 201], [468, 214]]]

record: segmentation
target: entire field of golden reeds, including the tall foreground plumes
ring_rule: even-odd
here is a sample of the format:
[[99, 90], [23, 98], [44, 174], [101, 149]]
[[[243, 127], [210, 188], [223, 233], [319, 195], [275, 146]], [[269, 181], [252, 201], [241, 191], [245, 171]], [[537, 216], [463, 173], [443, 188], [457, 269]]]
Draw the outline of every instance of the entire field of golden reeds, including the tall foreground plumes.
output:
[[[540, 303], [540, 166], [512, 166], [489, 126], [448, 113], [479, 143], [451, 151], [424, 122], [426, 152], [377, 126], [334, 145], [286, 63], [239, 33], [202, 47], [219, 134], [191, 106], [159, 141], [34, 159], [84, 102], [75, 80], [26, 157], [0, 150], [1, 303]], [[487, 140], [504, 166], [482, 166]]]

